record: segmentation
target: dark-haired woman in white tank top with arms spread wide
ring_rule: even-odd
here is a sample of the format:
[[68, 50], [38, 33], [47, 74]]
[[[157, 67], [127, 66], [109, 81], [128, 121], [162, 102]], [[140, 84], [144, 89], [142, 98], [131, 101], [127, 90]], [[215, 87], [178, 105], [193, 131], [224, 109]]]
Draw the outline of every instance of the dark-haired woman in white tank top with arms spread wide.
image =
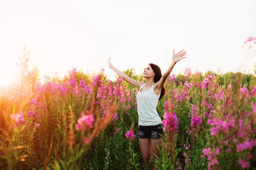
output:
[[145, 164], [148, 164], [150, 157], [154, 160], [154, 154], [159, 155], [157, 145], [161, 145], [160, 139], [161, 135], [163, 135], [163, 127], [156, 107], [158, 101], [162, 99], [166, 92], [163, 84], [171, 74], [175, 64], [181, 59], [186, 58], [185, 55], [186, 51], [181, 50], [175, 54], [175, 49], [173, 49], [172, 63], [166, 72], [163, 73], [163, 76], [157, 65], [152, 63], [148, 64], [143, 71], [143, 77], [146, 79], [146, 83], [128, 77], [125, 73], [119, 71], [112, 65], [110, 58], [108, 59], [109, 68], [131, 85], [140, 88], [140, 91], [137, 93], [137, 110], [139, 115], [138, 136], [144, 162], [144, 170]]

